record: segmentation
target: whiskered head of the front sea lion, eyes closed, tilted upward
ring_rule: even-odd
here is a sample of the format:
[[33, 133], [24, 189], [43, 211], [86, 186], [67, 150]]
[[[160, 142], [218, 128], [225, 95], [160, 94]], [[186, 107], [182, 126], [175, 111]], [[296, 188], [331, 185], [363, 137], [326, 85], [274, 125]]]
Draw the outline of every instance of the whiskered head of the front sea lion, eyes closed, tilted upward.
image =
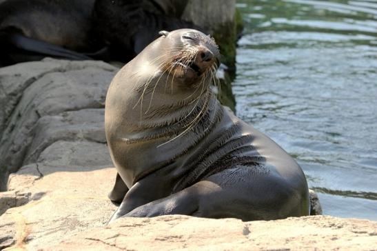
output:
[[[197, 88], [214, 83], [220, 65], [218, 46], [210, 35], [198, 30], [161, 31], [147, 48], [149, 62], [157, 66], [155, 76], [174, 83], [172, 88]], [[176, 89], [177, 90], [177, 89]]]

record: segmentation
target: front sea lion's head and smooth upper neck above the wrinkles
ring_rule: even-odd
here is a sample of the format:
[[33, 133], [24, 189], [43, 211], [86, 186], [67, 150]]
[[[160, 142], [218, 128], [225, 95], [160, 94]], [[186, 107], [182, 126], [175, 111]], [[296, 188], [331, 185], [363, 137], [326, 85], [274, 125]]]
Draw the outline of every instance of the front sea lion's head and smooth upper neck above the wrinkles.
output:
[[212, 37], [192, 29], [160, 34], [110, 85], [106, 116], [122, 130], [188, 124], [205, 114], [218, 85], [221, 55]]

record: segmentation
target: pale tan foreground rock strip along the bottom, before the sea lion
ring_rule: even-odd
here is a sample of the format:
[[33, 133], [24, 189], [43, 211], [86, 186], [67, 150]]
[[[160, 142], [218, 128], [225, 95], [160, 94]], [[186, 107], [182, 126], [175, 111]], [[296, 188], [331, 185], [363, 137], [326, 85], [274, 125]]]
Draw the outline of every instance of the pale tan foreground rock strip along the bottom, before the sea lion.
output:
[[252, 222], [123, 218], [41, 250], [374, 250], [376, 229], [376, 222], [321, 216]]

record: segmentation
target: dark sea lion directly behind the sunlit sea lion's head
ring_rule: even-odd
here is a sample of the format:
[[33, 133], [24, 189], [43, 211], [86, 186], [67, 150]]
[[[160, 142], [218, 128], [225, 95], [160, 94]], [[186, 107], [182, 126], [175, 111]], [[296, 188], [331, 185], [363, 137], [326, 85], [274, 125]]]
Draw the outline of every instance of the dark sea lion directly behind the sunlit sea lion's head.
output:
[[[111, 45], [113, 59], [130, 61], [159, 36], [160, 30], [196, 28], [181, 20], [188, 0], [97, 0], [97, 33]], [[125, 60], [124, 60], [125, 59]]]

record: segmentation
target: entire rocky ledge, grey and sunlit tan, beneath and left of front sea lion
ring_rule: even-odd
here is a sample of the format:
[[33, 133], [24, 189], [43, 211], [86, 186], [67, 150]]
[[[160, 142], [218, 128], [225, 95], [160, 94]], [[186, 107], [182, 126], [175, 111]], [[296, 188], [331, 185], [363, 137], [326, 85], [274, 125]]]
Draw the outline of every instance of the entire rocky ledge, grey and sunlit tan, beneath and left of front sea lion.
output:
[[[0, 69], [0, 250], [375, 250], [377, 223], [334, 217], [242, 222], [124, 218], [103, 103], [116, 68], [47, 60]], [[18, 170], [18, 172], [15, 172]]]

